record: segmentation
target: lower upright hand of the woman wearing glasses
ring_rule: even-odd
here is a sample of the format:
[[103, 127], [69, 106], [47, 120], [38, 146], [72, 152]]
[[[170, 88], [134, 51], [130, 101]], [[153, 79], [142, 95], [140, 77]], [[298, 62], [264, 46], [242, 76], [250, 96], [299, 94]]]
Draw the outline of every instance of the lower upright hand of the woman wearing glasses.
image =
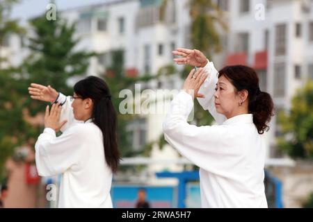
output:
[[47, 105], [45, 113], [45, 128], [52, 128], [56, 133], [67, 122], [66, 120], [60, 123], [61, 105], [53, 104], [49, 112], [49, 105]]

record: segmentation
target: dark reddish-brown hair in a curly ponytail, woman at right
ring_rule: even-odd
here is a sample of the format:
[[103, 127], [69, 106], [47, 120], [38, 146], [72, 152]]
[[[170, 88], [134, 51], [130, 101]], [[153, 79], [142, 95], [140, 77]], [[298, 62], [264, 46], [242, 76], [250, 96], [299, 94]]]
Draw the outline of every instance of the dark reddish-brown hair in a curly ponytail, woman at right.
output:
[[273, 117], [273, 100], [267, 92], [259, 89], [259, 78], [254, 69], [244, 65], [224, 67], [219, 71], [218, 78], [225, 76], [237, 92], [248, 91], [248, 111], [253, 114], [253, 123], [259, 134], [268, 131], [268, 123]]

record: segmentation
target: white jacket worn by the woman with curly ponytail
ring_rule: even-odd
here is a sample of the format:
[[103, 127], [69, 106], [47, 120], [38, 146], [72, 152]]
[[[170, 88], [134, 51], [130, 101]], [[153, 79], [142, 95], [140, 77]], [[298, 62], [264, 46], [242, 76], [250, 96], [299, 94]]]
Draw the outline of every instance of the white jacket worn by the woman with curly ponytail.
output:
[[198, 101], [220, 125], [198, 127], [188, 124], [186, 120], [193, 109], [193, 98], [180, 92], [173, 99], [163, 123], [166, 141], [200, 167], [202, 207], [267, 207], [265, 151], [252, 114], [230, 119], [218, 114], [214, 105], [218, 71], [212, 62], [204, 69], [209, 76], [199, 92], [206, 97]]

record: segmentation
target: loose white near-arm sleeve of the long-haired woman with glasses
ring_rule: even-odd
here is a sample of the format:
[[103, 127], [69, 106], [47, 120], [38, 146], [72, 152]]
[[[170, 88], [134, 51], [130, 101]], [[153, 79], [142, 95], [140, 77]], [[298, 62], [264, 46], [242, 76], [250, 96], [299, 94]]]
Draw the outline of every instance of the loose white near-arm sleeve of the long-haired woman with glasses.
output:
[[40, 176], [55, 176], [79, 162], [83, 130], [72, 127], [61, 136], [45, 128], [35, 144], [35, 162]]

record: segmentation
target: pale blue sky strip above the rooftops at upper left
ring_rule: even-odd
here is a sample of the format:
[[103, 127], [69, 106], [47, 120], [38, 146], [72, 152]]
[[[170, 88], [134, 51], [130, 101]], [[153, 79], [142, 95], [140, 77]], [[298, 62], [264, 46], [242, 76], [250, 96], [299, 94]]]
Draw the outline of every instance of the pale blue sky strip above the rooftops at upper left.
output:
[[[56, 0], [57, 10], [65, 10], [78, 6], [88, 6], [97, 3], [106, 3], [115, 0]], [[21, 3], [13, 7], [12, 15], [14, 19], [18, 18], [22, 21], [40, 15], [46, 11], [47, 4], [50, 0], [21, 0]]]

